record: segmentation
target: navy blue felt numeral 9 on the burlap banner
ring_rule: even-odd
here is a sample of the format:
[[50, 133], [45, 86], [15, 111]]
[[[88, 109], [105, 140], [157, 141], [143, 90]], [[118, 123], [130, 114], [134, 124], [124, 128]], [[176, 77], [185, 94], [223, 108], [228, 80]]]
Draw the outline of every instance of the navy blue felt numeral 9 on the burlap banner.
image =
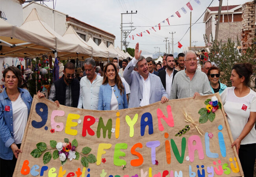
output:
[[[41, 109], [42, 109], [42, 111], [41, 111]], [[35, 120], [32, 120], [31, 124], [34, 128], [39, 129], [39, 128], [43, 127], [47, 122], [48, 106], [45, 103], [37, 103], [35, 105], [35, 111], [41, 117], [42, 121], [36, 122]]]

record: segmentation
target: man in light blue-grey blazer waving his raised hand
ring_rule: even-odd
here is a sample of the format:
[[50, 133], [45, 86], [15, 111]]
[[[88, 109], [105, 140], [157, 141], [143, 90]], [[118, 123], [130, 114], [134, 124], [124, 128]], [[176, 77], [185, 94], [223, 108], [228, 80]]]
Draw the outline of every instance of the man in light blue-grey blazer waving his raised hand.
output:
[[[132, 72], [134, 67], [138, 72]], [[135, 46], [134, 58], [124, 69], [123, 76], [131, 87], [128, 108], [168, 101], [168, 94], [163, 88], [160, 77], [149, 73], [147, 61], [139, 51], [139, 43]]]

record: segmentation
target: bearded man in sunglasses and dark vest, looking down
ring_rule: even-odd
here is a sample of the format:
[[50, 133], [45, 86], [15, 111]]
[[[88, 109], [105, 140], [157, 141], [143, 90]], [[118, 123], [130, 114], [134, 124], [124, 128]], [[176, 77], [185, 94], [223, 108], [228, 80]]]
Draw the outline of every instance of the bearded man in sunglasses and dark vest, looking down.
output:
[[59, 105], [77, 107], [80, 84], [75, 77], [75, 65], [68, 62], [64, 66], [63, 76], [52, 83], [48, 100]]

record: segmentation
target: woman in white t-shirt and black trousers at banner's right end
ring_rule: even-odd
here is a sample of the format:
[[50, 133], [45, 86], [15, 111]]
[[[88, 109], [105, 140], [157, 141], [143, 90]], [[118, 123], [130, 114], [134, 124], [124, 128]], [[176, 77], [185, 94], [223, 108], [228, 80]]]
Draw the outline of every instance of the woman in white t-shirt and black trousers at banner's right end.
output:
[[256, 158], [256, 92], [249, 88], [252, 65], [235, 64], [228, 87], [221, 94], [224, 111], [234, 138], [245, 177], [252, 177]]

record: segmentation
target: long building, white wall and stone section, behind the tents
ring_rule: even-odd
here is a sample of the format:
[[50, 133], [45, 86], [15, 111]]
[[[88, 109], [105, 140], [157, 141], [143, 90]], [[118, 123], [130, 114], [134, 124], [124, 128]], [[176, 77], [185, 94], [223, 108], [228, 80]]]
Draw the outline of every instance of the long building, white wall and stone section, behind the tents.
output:
[[86, 24], [74, 17], [69, 17], [68, 14], [44, 6], [38, 2], [30, 2], [23, 7], [24, 19], [28, 17], [33, 8], [37, 9], [39, 17], [61, 36], [71, 25], [78, 35], [80, 35], [80, 37], [86, 42], [91, 37], [98, 45], [103, 41], [106, 46], [109, 46], [110, 44], [113, 44], [114, 46], [115, 35]]

